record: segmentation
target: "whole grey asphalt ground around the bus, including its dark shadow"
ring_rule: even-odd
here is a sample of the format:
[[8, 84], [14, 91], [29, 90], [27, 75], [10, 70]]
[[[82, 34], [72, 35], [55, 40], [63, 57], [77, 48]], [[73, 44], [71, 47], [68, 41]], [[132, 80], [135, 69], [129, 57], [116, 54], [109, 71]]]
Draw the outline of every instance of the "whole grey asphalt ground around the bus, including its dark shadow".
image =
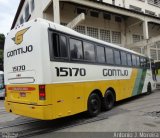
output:
[[[22, 120], [21, 118], [23, 117], [5, 113], [3, 101], [0, 100], [0, 124], [3, 123], [5, 125], [6, 122], [15, 123], [18, 119]], [[76, 123], [75, 120], [78, 120], [78, 123]], [[39, 123], [40, 125], [43, 125], [44, 121]], [[53, 120], [45, 123], [46, 128], [49, 124], [50, 130], [53, 130], [54, 132], [50, 131], [45, 134], [31, 137], [49, 138], [67, 137], [67, 135], [69, 135], [68, 137], [77, 137], [77, 135], [74, 136], [73, 134], [78, 134], [80, 138], [83, 137], [82, 133], [79, 135], [79, 133], [68, 132], [160, 132], [160, 90], [157, 90], [150, 95], [141, 95], [118, 102], [112, 110], [102, 112], [92, 119], [84, 119], [81, 115], [77, 115], [75, 117]], [[27, 129], [30, 129], [32, 126], [32, 124], [28, 125]], [[34, 128], [38, 129], [38, 126], [39, 124], [35, 124]], [[17, 129], [19, 130], [22, 128], [22, 126], [19, 126]], [[55, 132], [58, 132], [58, 136]], [[98, 137], [96, 134], [94, 134], [94, 136]], [[156, 136], [160, 137], [160, 133], [153, 137]]]

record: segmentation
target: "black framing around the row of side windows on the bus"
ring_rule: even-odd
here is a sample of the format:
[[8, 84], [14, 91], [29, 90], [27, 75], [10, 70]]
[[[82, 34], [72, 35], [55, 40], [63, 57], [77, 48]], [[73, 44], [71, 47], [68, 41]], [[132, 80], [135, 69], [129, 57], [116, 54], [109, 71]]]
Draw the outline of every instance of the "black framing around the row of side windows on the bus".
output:
[[[102, 44], [100, 44], [100, 43], [97, 43], [97, 42], [93, 42], [93, 41], [90, 41], [90, 40], [87, 40], [87, 39], [82, 39], [82, 38], [80, 38], [80, 37], [77, 37], [77, 36], [73, 36], [73, 35], [69, 35], [69, 34], [67, 34], [67, 33], [64, 33], [64, 32], [60, 32], [60, 31], [57, 31], [57, 30], [54, 30], [54, 29], [52, 29], [52, 28], [49, 28], [48, 29], [49, 30], [49, 47], [52, 47], [51, 45], [52, 45], [52, 37], [51, 37], [51, 34], [53, 34], [53, 32], [54, 33], [57, 33], [57, 34], [59, 34], [59, 35], [65, 35], [66, 36], [66, 38], [67, 38], [67, 44], [68, 44], [68, 58], [62, 58], [62, 57], [55, 57], [54, 55], [53, 55], [53, 53], [54, 52], [52, 52], [53, 51], [53, 48], [50, 48], [50, 60], [51, 61], [57, 61], [57, 62], [71, 62], [71, 63], [82, 63], [82, 64], [93, 64], [93, 65], [109, 65], [109, 66], [118, 66], [118, 67], [130, 67], [130, 68], [144, 68], [144, 69], [149, 69], [148, 67], [141, 67], [141, 66], [133, 66], [133, 64], [131, 65], [131, 66], [129, 66], [128, 65], [128, 63], [127, 63], [127, 65], [116, 65], [115, 64], [115, 62], [114, 62], [114, 64], [108, 64], [107, 62], [106, 62], [106, 54], [105, 54], [105, 62], [104, 63], [99, 63], [98, 61], [97, 61], [97, 51], [96, 51], [96, 46], [102, 46], [102, 47], [109, 47], [109, 48], [111, 48], [111, 49], [113, 49], [113, 50], [118, 50], [119, 52], [121, 52], [121, 51], [123, 51], [123, 52], [125, 52], [126, 54], [131, 54], [131, 61], [132, 61], [132, 55], [134, 55], [134, 56], [138, 56], [138, 57], [143, 57], [143, 56], [140, 56], [140, 55], [138, 55], [138, 54], [134, 54], [134, 53], [131, 53], [131, 52], [128, 52], [128, 51], [125, 51], [125, 50], [121, 50], [121, 49], [118, 49], [118, 48], [114, 48], [114, 47], [111, 47], [111, 46], [109, 46], [109, 45], [102, 45]], [[96, 61], [95, 62], [91, 62], [91, 61], [88, 61], [88, 60], [84, 60], [84, 58], [83, 59], [71, 59], [71, 57], [70, 57], [70, 43], [69, 43], [69, 39], [70, 38], [72, 38], [72, 39], [75, 39], [75, 40], [79, 40], [79, 41], [82, 41], [82, 48], [83, 48], [83, 41], [86, 41], [86, 42], [89, 42], [89, 43], [91, 43], [91, 44], [93, 44], [94, 45], [94, 49], [95, 49], [95, 59], [96, 59]], [[83, 57], [84, 57], [84, 49], [83, 49]], [[146, 58], [146, 57], [143, 57], [143, 58]], [[139, 58], [140, 59], [140, 58]], [[75, 62], [75, 61], [78, 61], [78, 62]], [[139, 61], [140, 62], [140, 61]]]

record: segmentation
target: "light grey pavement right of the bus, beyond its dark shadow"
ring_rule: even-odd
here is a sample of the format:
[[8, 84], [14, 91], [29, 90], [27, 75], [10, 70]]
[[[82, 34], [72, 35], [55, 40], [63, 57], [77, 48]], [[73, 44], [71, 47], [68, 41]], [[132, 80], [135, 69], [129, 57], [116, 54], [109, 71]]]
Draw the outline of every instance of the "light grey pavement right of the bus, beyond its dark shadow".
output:
[[[56, 132], [160, 132], [160, 90], [150, 95], [142, 95], [118, 102], [114, 109], [108, 111], [107, 114], [108, 117], [104, 120], [61, 129]], [[77, 137], [76, 133], [58, 133], [58, 136], [67, 137], [67, 134], [68, 137]], [[79, 133], [78, 135], [83, 137]], [[51, 132], [33, 136], [33, 138], [54, 136], [57, 137], [57, 133]], [[153, 133], [153, 137], [160, 137], [160, 133]]]

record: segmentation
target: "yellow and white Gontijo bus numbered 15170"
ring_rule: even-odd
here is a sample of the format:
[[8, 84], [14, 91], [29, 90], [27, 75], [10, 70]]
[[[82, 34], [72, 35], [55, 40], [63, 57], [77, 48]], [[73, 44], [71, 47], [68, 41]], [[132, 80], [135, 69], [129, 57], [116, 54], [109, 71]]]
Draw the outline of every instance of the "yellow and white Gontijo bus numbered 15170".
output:
[[43, 19], [8, 34], [4, 75], [6, 110], [42, 120], [96, 116], [154, 89], [149, 58]]

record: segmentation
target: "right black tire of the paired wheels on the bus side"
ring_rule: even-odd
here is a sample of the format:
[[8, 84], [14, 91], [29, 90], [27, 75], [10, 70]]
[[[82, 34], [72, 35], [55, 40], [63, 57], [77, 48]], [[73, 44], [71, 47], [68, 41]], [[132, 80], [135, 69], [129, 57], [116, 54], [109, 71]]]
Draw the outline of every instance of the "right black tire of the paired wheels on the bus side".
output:
[[107, 111], [113, 108], [115, 103], [115, 95], [111, 90], [107, 90], [103, 98], [103, 110]]

